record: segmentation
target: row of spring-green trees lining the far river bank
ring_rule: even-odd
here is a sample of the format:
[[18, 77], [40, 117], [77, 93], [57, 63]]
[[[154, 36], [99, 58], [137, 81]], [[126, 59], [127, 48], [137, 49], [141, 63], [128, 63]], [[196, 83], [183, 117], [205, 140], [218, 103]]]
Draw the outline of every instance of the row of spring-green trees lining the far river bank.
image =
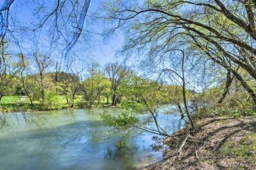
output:
[[[1, 55], [0, 102], [2, 97], [25, 95], [29, 103], [54, 102], [58, 95], [65, 96], [66, 104], [74, 107], [77, 95], [82, 95], [89, 107], [106, 99], [112, 106], [120, 103], [118, 87], [133, 74], [129, 67], [121, 63], [108, 63], [104, 67], [96, 61], [77, 65], [70, 63], [62, 70], [58, 61], [49, 56], [33, 53], [31, 58], [17, 55], [16, 59]], [[57, 101], [56, 101], [57, 102]]]

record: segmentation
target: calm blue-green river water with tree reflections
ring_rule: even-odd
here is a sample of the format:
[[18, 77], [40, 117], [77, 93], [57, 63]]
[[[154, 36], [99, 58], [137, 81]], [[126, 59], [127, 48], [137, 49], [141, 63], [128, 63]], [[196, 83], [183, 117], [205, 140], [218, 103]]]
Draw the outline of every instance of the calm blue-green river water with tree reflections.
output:
[[[118, 148], [120, 135], [101, 120], [104, 111], [119, 114], [121, 109], [0, 114], [0, 169], [144, 169], [161, 160], [147, 132], [133, 132]], [[160, 114], [158, 121], [170, 133], [184, 124], [179, 114]]]

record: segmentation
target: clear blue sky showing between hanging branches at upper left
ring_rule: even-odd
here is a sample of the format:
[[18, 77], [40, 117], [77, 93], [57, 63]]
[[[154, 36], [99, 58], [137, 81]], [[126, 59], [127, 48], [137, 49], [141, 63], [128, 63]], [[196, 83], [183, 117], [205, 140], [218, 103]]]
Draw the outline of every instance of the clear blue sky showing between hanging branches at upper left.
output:
[[[4, 1], [5, 0], [0, 0], [0, 5], [2, 5], [2, 2]], [[90, 61], [90, 59], [98, 61], [99, 64], [101, 64], [101, 66], [104, 66], [104, 64], [109, 62], [115, 62], [115, 61], [122, 62], [125, 59], [125, 57], [122, 57], [122, 56], [119, 56], [119, 58], [116, 58], [116, 55], [115, 55], [117, 50], [121, 49], [124, 43], [124, 36], [120, 32], [121, 30], [119, 30], [119, 32], [115, 33], [115, 35], [111, 36], [110, 38], [104, 39], [104, 37], [101, 36], [100, 34], [104, 32], [105, 29], [108, 29], [109, 26], [113, 27], [113, 25], [107, 24], [107, 22], [103, 22], [101, 19], [96, 19], [93, 17], [95, 12], [101, 13], [99, 9], [102, 7], [101, 6], [102, 2], [105, 2], [105, 1], [107, 0], [91, 0], [87, 21], [85, 22], [84, 29], [90, 30], [90, 32], [93, 32], [93, 33], [91, 33], [90, 36], [88, 36], [88, 39], [83, 39], [83, 37], [80, 37], [79, 46], [74, 47], [73, 50], [71, 50], [73, 51], [73, 56], [70, 55], [71, 56], [70, 58], [76, 58], [77, 60], [72, 64], [74, 69], [79, 69], [79, 67], [82, 64], [86, 66], [86, 62]], [[115, 1], [115, 0], [112, 0], [112, 1]], [[10, 25], [10, 29], [15, 30], [16, 38], [22, 42], [24, 51], [26, 51], [27, 49], [27, 52], [28, 53], [30, 52], [30, 55], [32, 55], [31, 47], [33, 49], [35, 42], [37, 41], [33, 41], [33, 36], [34, 36], [33, 33], [29, 32], [26, 35], [26, 33], [23, 33], [22, 27], [21, 29], [19, 29], [19, 26], [23, 25], [23, 26], [32, 27], [31, 22], [34, 24], [38, 23], [38, 19], [35, 17], [36, 15], [34, 15], [36, 5], [33, 2], [44, 2], [44, 4], [46, 5], [45, 7], [46, 13], [51, 12], [51, 10], [54, 9], [55, 7], [55, 4], [54, 4], [55, 0], [15, 0], [15, 3], [12, 5], [12, 9], [10, 10], [12, 12], [11, 13], [12, 19], [15, 19], [14, 23], [16, 24], [14, 25], [14, 27], [13, 25]], [[43, 54], [48, 49], [49, 43], [50, 43], [48, 41], [49, 38], [48, 39], [46, 38], [48, 33], [47, 30], [49, 29], [51, 29], [51, 27], [48, 26], [48, 29], [46, 29], [46, 32], [44, 32], [44, 35], [41, 36], [41, 39], [40, 39], [42, 40], [42, 43], [40, 44], [39, 52], [40, 53], [42, 52]], [[61, 64], [64, 68], [66, 65], [68, 65], [69, 61], [63, 62], [63, 59], [61, 57], [63, 46], [65, 46], [64, 43], [57, 44], [56, 46], [57, 50], [51, 53], [51, 58], [53, 60], [52, 65], [54, 65], [55, 61], [61, 61]], [[161, 68], [155, 67], [152, 70], [146, 69], [146, 66], [145, 66], [146, 63], [144, 63], [143, 61], [140, 61], [141, 58], [145, 59], [146, 56], [135, 57], [135, 54], [132, 54], [131, 60], [128, 61], [129, 66], [132, 67], [133, 70], [140, 72], [140, 75], [144, 75], [145, 77], [157, 78], [158, 72]], [[143, 67], [138, 67], [140, 66], [141, 62], [143, 62]], [[31, 67], [36, 69], [34, 66], [31, 66]], [[50, 69], [53, 69], [53, 68], [54, 67], [51, 67]], [[155, 71], [155, 73], [153, 71]]]

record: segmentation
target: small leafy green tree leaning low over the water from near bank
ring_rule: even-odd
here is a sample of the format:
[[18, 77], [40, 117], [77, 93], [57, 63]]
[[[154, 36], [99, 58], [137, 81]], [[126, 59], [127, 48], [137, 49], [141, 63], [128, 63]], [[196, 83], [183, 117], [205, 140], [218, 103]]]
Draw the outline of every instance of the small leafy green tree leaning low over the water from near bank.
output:
[[[117, 118], [105, 112], [102, 114], [104, 121], [116, 129], [137, 128], [152, 134], [169, 136], [158, 123], [157, 117], [160, 114], [160, 107], [165, 104], [165, 90], [155, 81], [145, 78], [130, 76], [119, 89], [124, 98], [121, 103], [125, 108], [123, 114]], [[130, 98], [137, 98], [131, 102]], [[140, 115], [147, 115], [143, 118]], [[140, 118], [139, 118], [140, 117]], [[153, 122], [155, 128], [147, 127], [147, 124]]]

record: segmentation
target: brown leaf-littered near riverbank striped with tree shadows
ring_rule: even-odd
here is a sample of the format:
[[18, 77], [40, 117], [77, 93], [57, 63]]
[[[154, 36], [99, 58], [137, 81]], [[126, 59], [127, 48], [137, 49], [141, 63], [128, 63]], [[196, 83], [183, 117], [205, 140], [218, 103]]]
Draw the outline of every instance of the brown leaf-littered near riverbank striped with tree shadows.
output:
[[149, 169], [256, 169], [256, 117], [215, 117], [165, 138], [163, 161]]

